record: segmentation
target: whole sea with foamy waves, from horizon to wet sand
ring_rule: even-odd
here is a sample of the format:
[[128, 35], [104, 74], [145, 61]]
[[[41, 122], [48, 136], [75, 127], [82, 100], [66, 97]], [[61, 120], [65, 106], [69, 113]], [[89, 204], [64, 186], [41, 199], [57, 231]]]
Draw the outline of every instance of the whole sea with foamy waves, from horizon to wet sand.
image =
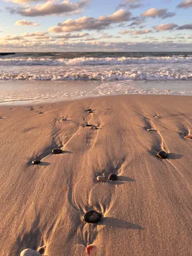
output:
[[0, 52], [0, 103], [192, 95], [192, 52]]

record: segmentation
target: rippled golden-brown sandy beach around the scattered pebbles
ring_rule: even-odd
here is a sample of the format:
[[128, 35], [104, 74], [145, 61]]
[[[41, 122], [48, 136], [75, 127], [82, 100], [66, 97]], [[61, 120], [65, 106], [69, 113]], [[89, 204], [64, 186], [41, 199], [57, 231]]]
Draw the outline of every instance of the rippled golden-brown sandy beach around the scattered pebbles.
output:
[[[1, 107], [0, 255], [85, 256], [90, 244], [97, 256], [192, 255], [191, 100], [118, 95]], [[98, 223], [83, 220], [90, 210], [102, 214]]]

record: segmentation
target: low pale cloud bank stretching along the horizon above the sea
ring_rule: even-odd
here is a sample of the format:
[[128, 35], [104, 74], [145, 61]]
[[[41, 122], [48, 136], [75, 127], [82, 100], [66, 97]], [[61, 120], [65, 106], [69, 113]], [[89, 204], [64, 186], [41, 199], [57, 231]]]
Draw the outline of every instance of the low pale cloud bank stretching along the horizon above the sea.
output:
[[58, 41], [37, 41], [27, 40], [1, 41], [1, 51], [191, 51], [192, 42], [66, 42]]

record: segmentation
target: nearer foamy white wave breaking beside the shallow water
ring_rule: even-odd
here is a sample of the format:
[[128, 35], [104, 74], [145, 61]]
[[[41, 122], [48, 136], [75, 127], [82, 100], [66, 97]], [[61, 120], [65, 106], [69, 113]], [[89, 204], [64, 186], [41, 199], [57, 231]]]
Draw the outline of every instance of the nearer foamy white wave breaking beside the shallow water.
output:
[[19, 73], [11, 74], [10, 72], [0, 72], [0, 80], [36, 80], [36, 81], [166, 81], [166, 80], [192, 80], [192, 72], [173, 72], [164, 70], [162, 72], [132, 72], [131, 70], [121, 72], [103, 71], [103, 72], [62, 72], [61, 74], [45, 74], [38, 72], [38, 74]]

